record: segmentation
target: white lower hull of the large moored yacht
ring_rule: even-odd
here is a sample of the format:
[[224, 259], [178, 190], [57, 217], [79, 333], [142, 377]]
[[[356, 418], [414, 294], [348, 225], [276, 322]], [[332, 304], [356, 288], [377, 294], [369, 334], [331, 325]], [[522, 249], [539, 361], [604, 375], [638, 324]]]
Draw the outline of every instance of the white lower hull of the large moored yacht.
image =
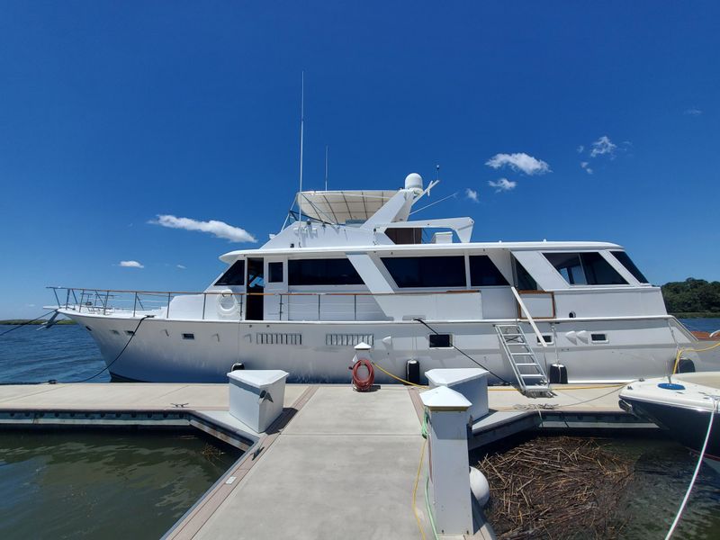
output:
[[[283, 369], [292, 382], [345, 383], [353, 346], [365, 341], [373, 346], [374, 362], [400, 377], [405, 376], [407, 361], [415, 359], [421, 373], [482, 365], [495, 375], [491, 383], [515, 383], [493, 326], [507, 320], [427, 321], [438, 333], [452, 335], [457, 347], [430, 348], [432, 331], [412, 320], [140, 320], [61, 312], [88, 329], [111, 374], [132, 381], [222, 383], [230, 367], [241, 362], [247, 369]], [[662, 376], [671, 371], [678, 347], [668, 319], [538, 321], [538, 327], [552, 342], [535, 348], [539, 362], [546, 367], [557, 362], [565, 365], [570, 383]], [[136, 329], [134, 335], [128, 333]], [[608, 340], [583, 341], [577, 338], [582, 330], [589, 336], [603, 332]], [[526, 333], [528, 339], [536, 340], [529, 326]], [[716, 360], [707, 357], [695, 362], [698, 371], [720, 369]], [[381, 383], [392, 382], [387, 375], [376, 375]]]

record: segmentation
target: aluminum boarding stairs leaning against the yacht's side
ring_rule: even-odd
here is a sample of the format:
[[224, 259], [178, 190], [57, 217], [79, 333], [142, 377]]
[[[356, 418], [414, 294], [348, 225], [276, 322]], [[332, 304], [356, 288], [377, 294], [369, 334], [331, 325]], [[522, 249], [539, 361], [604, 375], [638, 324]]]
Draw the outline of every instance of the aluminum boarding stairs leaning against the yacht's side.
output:
[[510, 367], [518, 379], [521, 393], [526, 396], [545, 395], [551, 392], [543, 366], [537, 361], [523, 329], [519, 324], [496, 324], [500, 344], [508, 357]]

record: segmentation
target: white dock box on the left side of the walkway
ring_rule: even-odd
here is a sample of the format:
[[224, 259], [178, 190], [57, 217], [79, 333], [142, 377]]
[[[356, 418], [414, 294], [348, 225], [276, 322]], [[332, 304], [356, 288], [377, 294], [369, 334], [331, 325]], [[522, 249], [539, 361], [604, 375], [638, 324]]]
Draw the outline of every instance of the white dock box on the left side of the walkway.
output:
[[230, 414], [257, 433], [266, 431], [283, 412], [287, 375], [279, 369], [229, 373]]

